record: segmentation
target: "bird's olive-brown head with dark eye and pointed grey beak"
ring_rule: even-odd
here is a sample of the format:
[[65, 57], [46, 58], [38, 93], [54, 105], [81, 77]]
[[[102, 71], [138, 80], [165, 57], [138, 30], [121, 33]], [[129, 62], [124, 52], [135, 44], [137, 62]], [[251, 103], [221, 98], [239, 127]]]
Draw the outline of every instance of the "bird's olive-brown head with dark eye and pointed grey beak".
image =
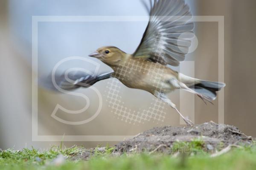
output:
[[95, 57], [107, 65], [119, 65], [126, 57], [126, 53], [119, 48], [113, 46], [101, 47], [94, 53], [89, 54], [90, 57]]

